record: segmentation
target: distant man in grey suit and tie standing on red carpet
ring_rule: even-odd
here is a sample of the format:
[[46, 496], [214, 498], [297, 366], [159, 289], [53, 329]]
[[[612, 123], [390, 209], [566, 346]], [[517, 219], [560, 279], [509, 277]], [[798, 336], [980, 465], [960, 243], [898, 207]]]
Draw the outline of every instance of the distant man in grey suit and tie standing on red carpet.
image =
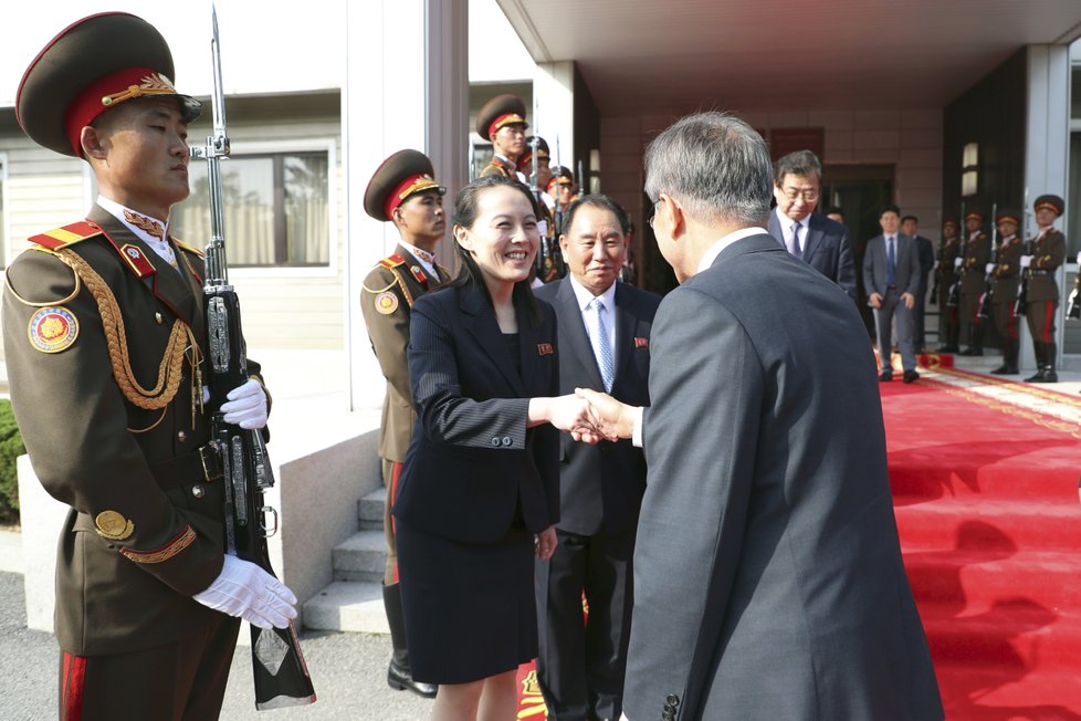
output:
[[901, 212], [886, 206], [879, 215], [882, 234], [867, 243], [863, 255], [863, 288], [867, 304], [874, 309], [874, 326], [879, 334], [879, 380], [893, 380], [892, 343], [893, 316], [898, 317], [898, 348], [904, 382], [920, 377], [916, 354], [912, 347], [915, 328], [914, 309], [920, 292], [920, 249], [910, 236], [898, 232]]

